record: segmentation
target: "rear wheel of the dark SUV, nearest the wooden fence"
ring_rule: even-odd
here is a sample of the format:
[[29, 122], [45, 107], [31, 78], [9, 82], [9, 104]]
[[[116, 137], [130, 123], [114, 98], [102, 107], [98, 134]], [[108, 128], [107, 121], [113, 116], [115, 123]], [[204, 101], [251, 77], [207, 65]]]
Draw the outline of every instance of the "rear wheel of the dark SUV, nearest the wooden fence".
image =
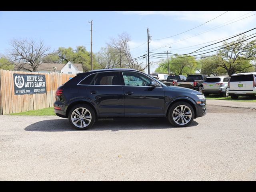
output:
[[[80, 120], [80, 118], [82, 118], [82, 120]], [[96, 114], [90, 106], [78, 104], [71, 108], [68, 114], [68, 120], [75, 129], [87, 130], [94, 124]]]

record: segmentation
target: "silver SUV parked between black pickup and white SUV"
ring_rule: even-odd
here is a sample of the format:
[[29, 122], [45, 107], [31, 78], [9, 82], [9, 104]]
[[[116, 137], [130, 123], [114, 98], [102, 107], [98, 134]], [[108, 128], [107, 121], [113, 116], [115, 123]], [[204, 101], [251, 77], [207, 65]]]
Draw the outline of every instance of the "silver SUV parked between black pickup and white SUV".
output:
[[228, 81], [230, 77], [207, 77], [203, 82], [202, 93], [205, 96], [209, 94], [220, 94], [223, 97], [228, 97]]

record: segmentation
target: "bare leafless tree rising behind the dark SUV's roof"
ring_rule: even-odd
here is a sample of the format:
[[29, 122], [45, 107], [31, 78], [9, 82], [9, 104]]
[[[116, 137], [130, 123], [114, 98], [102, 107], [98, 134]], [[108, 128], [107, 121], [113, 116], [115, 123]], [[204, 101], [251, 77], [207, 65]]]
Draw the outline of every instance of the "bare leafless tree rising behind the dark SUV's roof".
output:
[[145, 70], [145, 66], [143, 66], [143, 63], [138, 63], [135, 59], [132, 58], [132, 54], [130, 52], [130, 47], [128, 45], [128, 42], [131, 40], [130, 35], [123, 32], [121, 35], [118, 35], [118, 38], [112, 38], [110, 43], [108, 43], [108, 46], [111, 46], [118, 50], [125, 59], [122, 59], [123, 66], [126, 68], [136, 69], [139, 71]]

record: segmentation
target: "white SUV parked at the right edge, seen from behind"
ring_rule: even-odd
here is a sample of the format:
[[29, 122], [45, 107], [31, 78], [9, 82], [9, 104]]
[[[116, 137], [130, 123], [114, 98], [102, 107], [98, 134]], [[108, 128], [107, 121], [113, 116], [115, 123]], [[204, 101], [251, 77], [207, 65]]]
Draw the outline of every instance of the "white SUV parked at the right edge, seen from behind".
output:
[[232, 99], [256, 95], [256, 72], [233, 74], [228, 82], [228, 93]]

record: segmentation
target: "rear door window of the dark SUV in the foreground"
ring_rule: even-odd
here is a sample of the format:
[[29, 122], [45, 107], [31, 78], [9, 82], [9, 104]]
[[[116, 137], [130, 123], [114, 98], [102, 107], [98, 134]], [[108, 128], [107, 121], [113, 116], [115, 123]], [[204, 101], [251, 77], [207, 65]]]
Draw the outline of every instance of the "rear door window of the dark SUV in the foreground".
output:
[[122, 85], [119, 72], [102, 72], [98, 73], [92, 85]]

